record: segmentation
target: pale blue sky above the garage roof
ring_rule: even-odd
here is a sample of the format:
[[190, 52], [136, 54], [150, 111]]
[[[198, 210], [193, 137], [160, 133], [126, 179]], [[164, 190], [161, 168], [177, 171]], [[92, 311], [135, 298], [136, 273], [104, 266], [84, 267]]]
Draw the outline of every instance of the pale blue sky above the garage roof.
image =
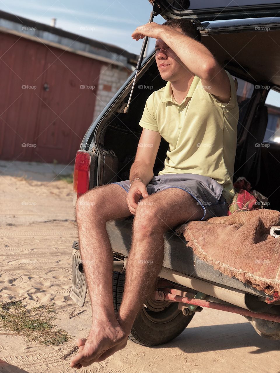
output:
[[[133, 40], [131, 34], [149, 21], [152, 5], [148, 0], [1, 0], [0, 9], [48, 25], [56, 18], [58, 28], [139, 54], [143, 40]], [[161, 15], [155, 18], [164, 21]], [[154, 46], [151, 39], [148, 53]]]

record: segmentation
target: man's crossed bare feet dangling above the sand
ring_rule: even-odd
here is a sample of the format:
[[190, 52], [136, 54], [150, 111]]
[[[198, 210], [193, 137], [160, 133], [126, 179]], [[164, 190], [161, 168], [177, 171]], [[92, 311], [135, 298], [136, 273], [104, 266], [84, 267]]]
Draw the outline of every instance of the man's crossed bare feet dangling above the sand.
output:
[[95, 322], [87, 339], [76, 340], [79, 352], [71, 358], [70, 367], [80, 369], [93, 364], [95, 361], [102, 361], [104, 359], [99, 360], [99, 358], [106, 351], [116, 348], [118, 345], [120, 346], [115, 351], [121, 350], [127, 345], [127, 339], [128, 335], [125, 334], [117, 320], [106, 324], [103, 320]]

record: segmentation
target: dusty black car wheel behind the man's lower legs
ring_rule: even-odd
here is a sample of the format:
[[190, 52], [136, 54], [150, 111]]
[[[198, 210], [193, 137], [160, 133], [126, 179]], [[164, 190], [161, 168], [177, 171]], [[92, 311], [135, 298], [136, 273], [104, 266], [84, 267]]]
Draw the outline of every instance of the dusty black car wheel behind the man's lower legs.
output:
[[[113, 272], [113, 304], [117, 313], [124, 292], [125, 272]], [[146, 307], [145, 307], [146, 306]], [[143, 346], [156, 346], [176, 338], [189, 325], [193, 314], [184, 316], [178, 303], [148, 298], [136, 316], [128, 339]]]

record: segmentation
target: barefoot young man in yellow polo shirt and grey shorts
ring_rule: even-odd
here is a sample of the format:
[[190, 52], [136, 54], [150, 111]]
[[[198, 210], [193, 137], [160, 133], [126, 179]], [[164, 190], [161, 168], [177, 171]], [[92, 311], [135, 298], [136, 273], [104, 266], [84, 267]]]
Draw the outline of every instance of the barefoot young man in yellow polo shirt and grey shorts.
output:
[[[130, 180], [91, 189], [77, 202], [81, 255], [93, 323], [71, 367], [102, 361], [127, 344], [133, 322], [155, 285], [164, 233], [189, 220], [226, 215], [239, 109], [231, 75], [200, 43], [188, 20], [137, 27], [135, 40], [156, 40], [156, 63], [167, 84], [146, 101], [143, 131]], [[169, 142], [164, 169], [153, 175], [161, 137]], [[135, 215], [121, 307], [112, 301], [112, 248], [106, 222]], [[149, 264], [146, 264], [149, 263]]]

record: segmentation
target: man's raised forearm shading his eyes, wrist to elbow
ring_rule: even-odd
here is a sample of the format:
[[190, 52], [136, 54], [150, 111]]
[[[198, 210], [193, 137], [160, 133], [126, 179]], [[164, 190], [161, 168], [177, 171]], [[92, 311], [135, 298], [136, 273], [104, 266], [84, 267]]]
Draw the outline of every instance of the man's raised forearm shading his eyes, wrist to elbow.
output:
[[177, 54], [183, 64], [201, 79], [206, 80], [209, 70], [217, 65], [208, 48], [171, 27], [164, 28], [161, 39]]

